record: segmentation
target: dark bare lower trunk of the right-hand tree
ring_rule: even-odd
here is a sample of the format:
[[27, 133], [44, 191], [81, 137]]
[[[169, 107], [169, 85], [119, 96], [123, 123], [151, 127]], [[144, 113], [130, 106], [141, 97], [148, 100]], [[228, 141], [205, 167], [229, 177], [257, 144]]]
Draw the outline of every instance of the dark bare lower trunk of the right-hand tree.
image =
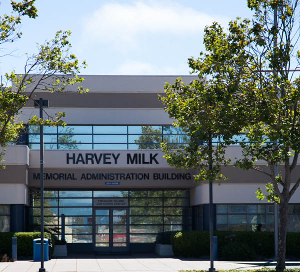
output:
[[279, 239], [277, 251], [276, 271], [281, 272], [285, 269], [285, 246], [286, 246], [286, 226], [288, 216], [288, 201], [279, 203]]

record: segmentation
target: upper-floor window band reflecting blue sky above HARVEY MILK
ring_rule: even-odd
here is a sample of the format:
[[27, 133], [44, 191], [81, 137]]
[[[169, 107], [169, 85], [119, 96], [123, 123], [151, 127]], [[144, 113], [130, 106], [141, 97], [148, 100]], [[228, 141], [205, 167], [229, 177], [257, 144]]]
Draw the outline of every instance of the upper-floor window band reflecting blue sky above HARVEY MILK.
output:
[[[187, 145], [189, 137], [173, 126], [67, 125], [44, 127], [45, 149], [172, 149]], [[39, 126], [28, 126], [28, 146], [39, 149]]]

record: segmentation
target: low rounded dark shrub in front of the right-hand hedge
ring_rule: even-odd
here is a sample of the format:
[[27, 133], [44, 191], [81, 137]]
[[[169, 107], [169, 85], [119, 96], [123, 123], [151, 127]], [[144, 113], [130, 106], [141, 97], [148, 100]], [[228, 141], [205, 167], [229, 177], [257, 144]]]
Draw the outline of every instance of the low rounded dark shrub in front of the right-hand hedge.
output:
[[226, 261], [254, 261], [254, 250], [245, 243], [229, 242], [221, 249], [221, 256]]

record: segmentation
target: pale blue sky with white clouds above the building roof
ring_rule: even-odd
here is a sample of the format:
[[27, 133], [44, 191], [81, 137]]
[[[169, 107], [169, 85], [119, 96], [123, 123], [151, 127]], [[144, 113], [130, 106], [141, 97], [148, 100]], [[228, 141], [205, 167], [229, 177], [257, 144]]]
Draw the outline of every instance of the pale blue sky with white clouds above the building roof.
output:
[[[0, 0], [0, 14], [10, 13]], [[81, 74], [184, 75], [187, 58], [202, 51], [203, 30], [212, 21], [226, 27], [251, 17], [246, 0], [36, 0], [36, 19], [23, 19], [20, 40], [5, 44], [0, 74], [23, 72], [25, 53], [56, 30], [71, 30], [71, 52], [88, 67]]]

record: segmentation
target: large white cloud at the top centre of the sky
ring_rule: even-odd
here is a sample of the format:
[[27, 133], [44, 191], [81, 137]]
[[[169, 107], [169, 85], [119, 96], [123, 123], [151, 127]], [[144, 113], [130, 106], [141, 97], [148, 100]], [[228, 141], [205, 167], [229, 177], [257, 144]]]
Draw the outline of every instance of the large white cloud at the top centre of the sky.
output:
[[151, 35], [201, 34], [212, 21], [227, 22], [174, 1], [108, 2], [83, 20], [84, 43], [105, 43], [118, 50], [138, 48], [140, 39]]

